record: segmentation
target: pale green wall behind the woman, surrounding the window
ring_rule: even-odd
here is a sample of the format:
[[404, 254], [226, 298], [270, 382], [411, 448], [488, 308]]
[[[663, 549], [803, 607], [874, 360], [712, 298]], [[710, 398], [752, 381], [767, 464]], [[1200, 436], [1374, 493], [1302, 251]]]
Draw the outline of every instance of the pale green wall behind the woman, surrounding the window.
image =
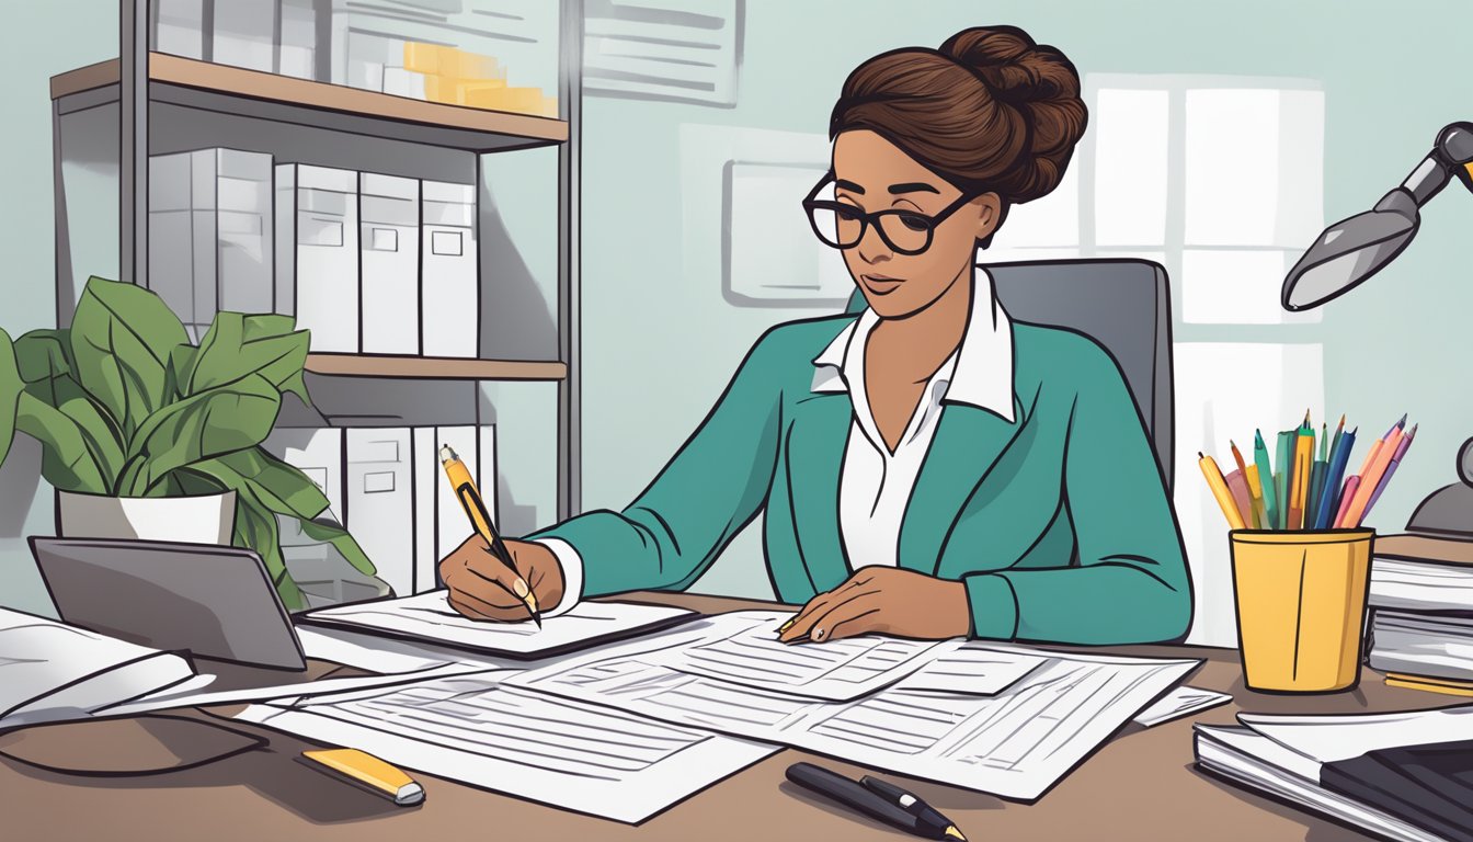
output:
[[[1444, 124], [1473, 118], [1467, 27], [1458, 22], [1469, 10], [1466, 0], [748, 0], [735, 109], [585, 97], [585, 506], [625, 504], [689, 435], [763, 327], [818, 313], [722, 299], [719, 258], [703, 233], [710, 220], [700, 217], [719, 212], [720, 181], [682, 184], [682, 124], [822, 133], [844, 77], [863, 59], [938, 46], [969, 25], [1015, 24], [1086, 74], [1321, 80], [1324, 208], [1337, 220], [1399, 183]], [[1349, 413], [1367, 428], [1402, 411], [1421, 422], [1413, 457], [1379, 504], [1383, 531], [1454, 479], [1452, 454], [1473, 434], [1473, 391], [1460, 364], [1473, 304], [1473, 255], [1461, 249], [1473, 196], [1463, 193], [1454, 184], [1435, 199], [1401, 260], [1295, 333], [1324, 342], [1326, 413]], [[1273, 341], [1270, 330], [1239, 333], [1211, 338]], [[1178, 470], [1178, 482], [1190, 481]], [[698, 587], [770, 593], [753, 532]]]

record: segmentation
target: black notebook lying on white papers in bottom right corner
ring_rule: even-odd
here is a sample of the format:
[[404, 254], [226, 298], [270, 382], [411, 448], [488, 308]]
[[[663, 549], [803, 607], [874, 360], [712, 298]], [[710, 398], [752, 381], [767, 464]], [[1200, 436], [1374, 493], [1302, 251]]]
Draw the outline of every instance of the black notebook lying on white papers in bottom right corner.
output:
[[1327, 762], [1320, 784], [1445, 839], [1473, 842], [1473, 740]]

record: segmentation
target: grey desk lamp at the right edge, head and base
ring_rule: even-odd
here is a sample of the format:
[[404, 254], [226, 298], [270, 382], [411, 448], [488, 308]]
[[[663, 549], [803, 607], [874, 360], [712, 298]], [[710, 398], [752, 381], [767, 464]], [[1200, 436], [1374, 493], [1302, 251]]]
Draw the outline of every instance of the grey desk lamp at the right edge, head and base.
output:
[[[1473, 190], [1473, 122], [1446, 125], [1438, 133], [1432, 152], [1399, 187], [1382, 196], [1370, 211], [1326, 229], [1284, 277], [1284, 310], [1312, 310], [1380, 271], [1417, 234], [1421, 206], [1454, 175]], [[1458, 448], [1457, 467], [1463, 482], [1423, 500], [1408, 529], [1473, 537], [1473, 438]]]

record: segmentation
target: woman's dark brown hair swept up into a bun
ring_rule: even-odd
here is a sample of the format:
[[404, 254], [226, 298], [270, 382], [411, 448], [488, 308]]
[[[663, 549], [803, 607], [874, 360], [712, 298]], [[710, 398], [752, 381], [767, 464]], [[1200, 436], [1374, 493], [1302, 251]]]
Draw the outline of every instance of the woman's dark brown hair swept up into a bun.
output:
[[1006, 214], [1059, 186], [1087, 119], [1064, 53], [1018, 27], [974, 27], [940, 50], [906, 47], [859, 65], [829, 139], [872, 130], [959, 189], [997, 193]]

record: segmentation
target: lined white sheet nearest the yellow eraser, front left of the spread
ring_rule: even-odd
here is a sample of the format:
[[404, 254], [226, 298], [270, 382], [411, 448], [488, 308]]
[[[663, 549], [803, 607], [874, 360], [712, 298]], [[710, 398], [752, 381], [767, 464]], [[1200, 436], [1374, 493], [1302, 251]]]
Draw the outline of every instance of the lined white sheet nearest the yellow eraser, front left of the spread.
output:
[[426, 774], [629, 823], [778, 751], [502, 687], [502, 675], [252, 705], [240, 718], [351, 745]]

